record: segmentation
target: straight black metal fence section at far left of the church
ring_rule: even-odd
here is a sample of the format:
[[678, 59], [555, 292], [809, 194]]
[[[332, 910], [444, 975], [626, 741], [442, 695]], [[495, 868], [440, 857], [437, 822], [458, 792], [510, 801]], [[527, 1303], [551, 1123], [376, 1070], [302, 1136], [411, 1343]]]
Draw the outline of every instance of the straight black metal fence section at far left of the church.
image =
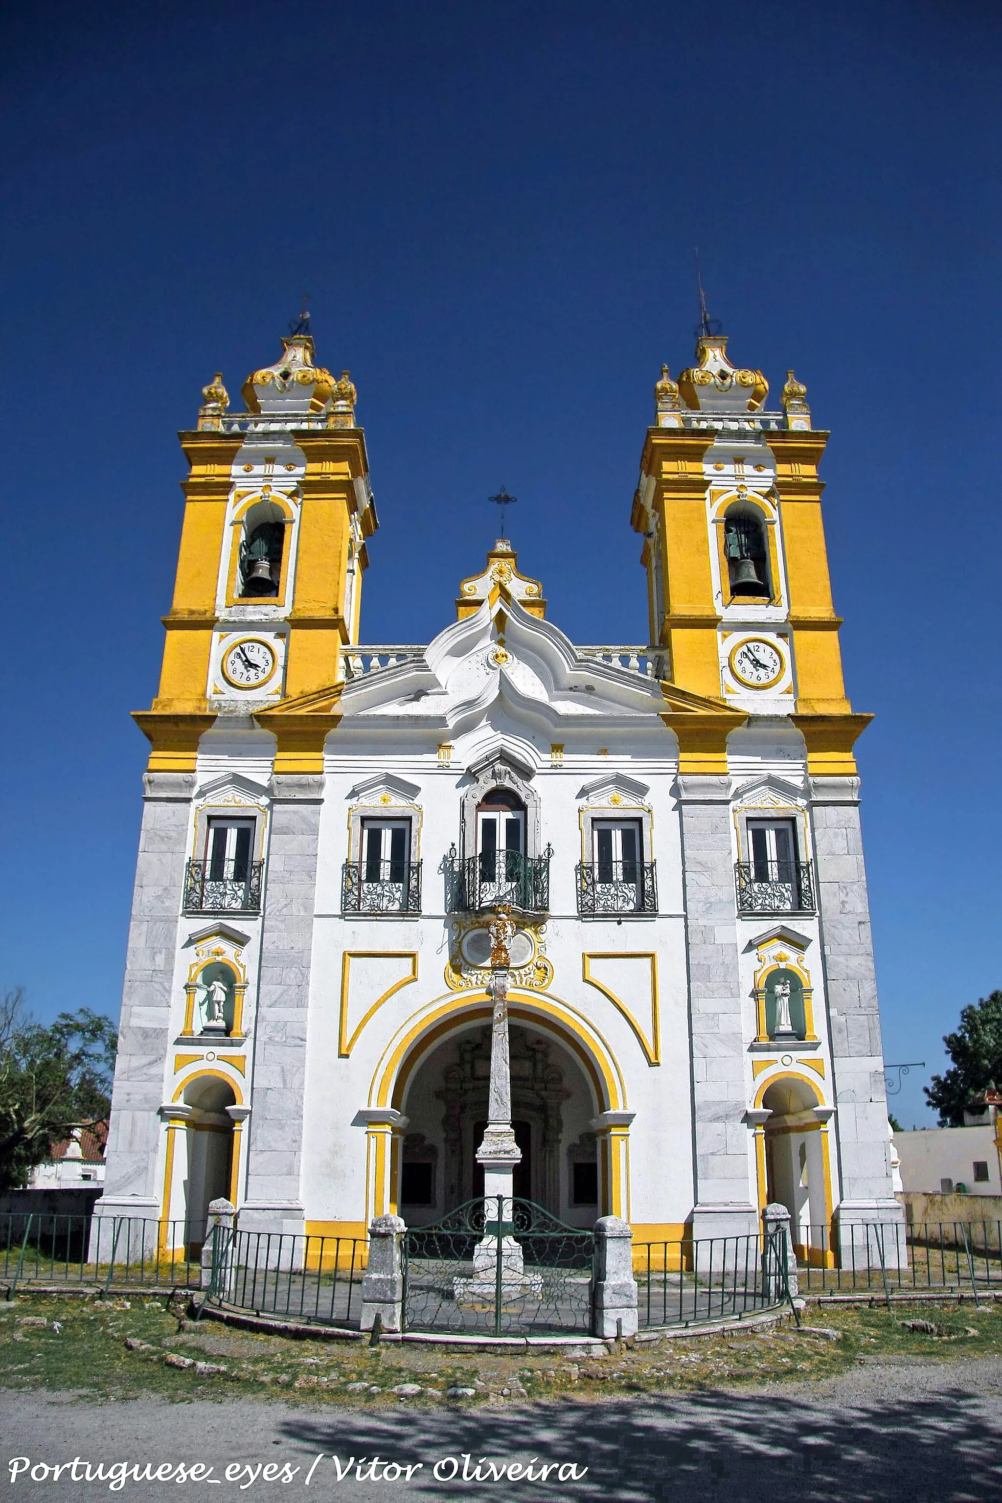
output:
[[[0, 1281], [30, 1285], [197, 1288], [204, 1222], [138, 1216], [0, 1214]], [[194, 1244], [194, 1246], [192, 1246]]]

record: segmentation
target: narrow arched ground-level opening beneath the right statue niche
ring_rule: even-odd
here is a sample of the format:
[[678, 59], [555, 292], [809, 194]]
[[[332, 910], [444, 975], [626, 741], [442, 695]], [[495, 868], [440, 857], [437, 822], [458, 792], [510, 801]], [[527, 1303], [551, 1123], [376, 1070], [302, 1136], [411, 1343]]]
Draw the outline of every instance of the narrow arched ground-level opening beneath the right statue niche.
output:
[[825, 1124], [816, 1114], [819, 1096], [807, 1081], [783, 1076], [765, 1091], [762, 1105], [771, 1114], [765, 1126], [768, 1199], [789, 1210], [798, 1258], [819, 1261], [829, 1250], [831, 1217]]

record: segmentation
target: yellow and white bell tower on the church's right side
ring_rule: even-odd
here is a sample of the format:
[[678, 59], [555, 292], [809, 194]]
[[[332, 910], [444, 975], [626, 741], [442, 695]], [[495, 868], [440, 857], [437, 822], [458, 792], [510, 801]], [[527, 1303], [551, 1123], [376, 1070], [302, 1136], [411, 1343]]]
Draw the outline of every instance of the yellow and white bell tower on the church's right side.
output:
[[676, 691], [789, 715], [811, 774], [852, 776], [870, 717], [852, 712], [843, 684], [819, 476], [828, 434], [793, 371], [769, 410], [762, 371], [733, 365], [714, 328], [703, 320], [678, 382], [665, 365], [655, 385], [631, 519], [650, 640], [667, 648]]

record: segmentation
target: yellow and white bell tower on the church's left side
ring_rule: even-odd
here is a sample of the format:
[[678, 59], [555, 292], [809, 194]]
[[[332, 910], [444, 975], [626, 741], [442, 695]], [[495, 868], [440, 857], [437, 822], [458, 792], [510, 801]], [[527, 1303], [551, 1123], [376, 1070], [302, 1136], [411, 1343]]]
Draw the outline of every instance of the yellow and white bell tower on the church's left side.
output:
[[317, 771], [337, 724], [343, 651], [358, 642], [367, 540], [379, 526], [356, 389], [315, 362], [309, 316], [243, 383], [222, 377], [180, 434], [177, 576], [159, 691], [135, 718], [149, 770], [192, 771], [218, 715], [252, 715], [276, 738], [275, 771]]

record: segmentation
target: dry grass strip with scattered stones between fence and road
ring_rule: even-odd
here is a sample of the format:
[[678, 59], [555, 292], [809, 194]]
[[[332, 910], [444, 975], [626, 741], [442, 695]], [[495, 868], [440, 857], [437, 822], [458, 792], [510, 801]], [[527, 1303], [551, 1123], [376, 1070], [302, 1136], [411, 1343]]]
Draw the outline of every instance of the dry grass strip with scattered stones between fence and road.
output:
[[[554, 1360], [547, 1353], [493, 1357], [395, 1345], [371, 1351], [356, 1342], [291, 1341], [179, 1317], [180, 1308], [164, 1296], [107, 1302], [20, 1297], [0, 1306], [0, 1387], [104, 1401], [150, 1395], [174, 1402], [221, 1401], [255, 1393], [311, 1407], [398, 1407], [810, 1381], [861, 1362], [1002, 1354], [1002, 1312], [993, 1302], [981, 1308], [922, 1302], [892, 1311], [811, 1306], [805, 1326], [835, 1332], [835, 1339], [784, 1323], [720, 1336], [664, 1338], [578, 1362]], [[191, 1365], [171, 1366], [167, 1356]], [[394, 1392], [398, 1384], [419, 1386], [421, 1393], [401, 1396]], [[449, 1398], [451, 1387], [475, 1393]]]

